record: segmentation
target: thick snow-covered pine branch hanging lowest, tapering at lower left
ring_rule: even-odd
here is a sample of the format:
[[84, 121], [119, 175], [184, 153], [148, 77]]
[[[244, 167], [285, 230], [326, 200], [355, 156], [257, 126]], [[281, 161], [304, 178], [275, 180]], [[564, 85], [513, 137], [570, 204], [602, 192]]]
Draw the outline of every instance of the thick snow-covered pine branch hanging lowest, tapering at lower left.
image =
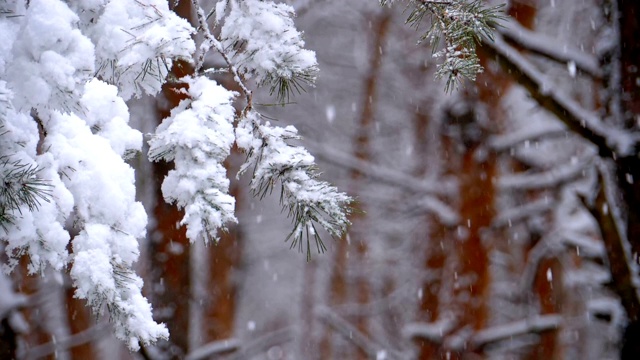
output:
[[[132, 269], [147, 223], [142, 204], [135, 201], [133, 169], [76, 115], [53, 113], [44, 122], [52, 167], [73, 195], [71, 215], [79, 231], [70, 271], [75, 296], [96, 313], [106, 306], [116, 337], [131, 349], [166, 338], [167, 329], [153, 321], [142, 279]], [[54, 189], [57, 196], [63, 190]]]

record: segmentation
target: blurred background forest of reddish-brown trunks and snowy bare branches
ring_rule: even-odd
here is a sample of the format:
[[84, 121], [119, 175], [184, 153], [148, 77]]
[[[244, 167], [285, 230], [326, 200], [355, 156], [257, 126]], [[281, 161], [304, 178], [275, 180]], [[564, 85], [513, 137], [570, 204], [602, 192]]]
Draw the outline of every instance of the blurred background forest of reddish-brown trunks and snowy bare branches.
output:
[[[261, 201], [240, 179], [239, 225], [189, 244], [162, 201], [168, 165], [141, 155], [138, 273], [170, 341], [130, 353], [68, 279], [25, 267], [0, 277], [29, 297], [2, 312], [0, 346], [24, 359], [639, 359], [640, 3], [507, 0], [478, 48], [484, 72], [452, 93], [404, 3], [288, 3], [320, 76], [256, 108], [294, 124], [323, 179], [357, 199], [349, 235], [325, 234], [307, 262], [284, 242], [278, 194]], [[144, 133], [180, 101], [165, 86], [131, 103]], [[243, 155], [230, 159], [235, 180]]]

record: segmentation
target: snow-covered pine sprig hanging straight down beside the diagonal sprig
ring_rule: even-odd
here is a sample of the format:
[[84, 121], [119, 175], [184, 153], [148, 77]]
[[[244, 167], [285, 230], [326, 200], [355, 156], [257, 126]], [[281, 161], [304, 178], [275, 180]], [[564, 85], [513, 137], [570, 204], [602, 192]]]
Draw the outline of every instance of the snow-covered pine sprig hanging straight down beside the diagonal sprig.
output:
[[162, 183], [162, 194], [185, 209], [180, 224], [187, 225], [189, 239], [217, 241], [218, 230], [236, 222], [223, 165], [235, 141], [235, 94], [206, 77], [183, 80], [189, 99], [158, 126], [149, 141], [149, 159], [175, 163]]

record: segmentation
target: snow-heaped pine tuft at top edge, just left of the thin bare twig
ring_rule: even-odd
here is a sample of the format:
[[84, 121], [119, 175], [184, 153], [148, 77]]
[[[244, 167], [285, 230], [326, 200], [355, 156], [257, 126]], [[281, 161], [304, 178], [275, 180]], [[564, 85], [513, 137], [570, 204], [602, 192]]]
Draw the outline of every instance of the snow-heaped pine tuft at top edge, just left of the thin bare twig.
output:
[[155, 95], [173, 59], [195, 52], [193, 28], [166, 0], [74, 1], [80, 26], [95, 45], [95, 76], [118, 86], [128, 100]]

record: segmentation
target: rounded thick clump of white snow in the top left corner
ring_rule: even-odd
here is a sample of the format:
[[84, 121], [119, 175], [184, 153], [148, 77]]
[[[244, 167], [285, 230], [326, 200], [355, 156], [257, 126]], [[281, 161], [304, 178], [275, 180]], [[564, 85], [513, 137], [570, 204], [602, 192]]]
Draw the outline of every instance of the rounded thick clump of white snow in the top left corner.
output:
[[60, 0], [32, 1], [24, 10], [3, 74], [18, 110], [76, 110], [82, 84], [94, 71], [93, 44]]

